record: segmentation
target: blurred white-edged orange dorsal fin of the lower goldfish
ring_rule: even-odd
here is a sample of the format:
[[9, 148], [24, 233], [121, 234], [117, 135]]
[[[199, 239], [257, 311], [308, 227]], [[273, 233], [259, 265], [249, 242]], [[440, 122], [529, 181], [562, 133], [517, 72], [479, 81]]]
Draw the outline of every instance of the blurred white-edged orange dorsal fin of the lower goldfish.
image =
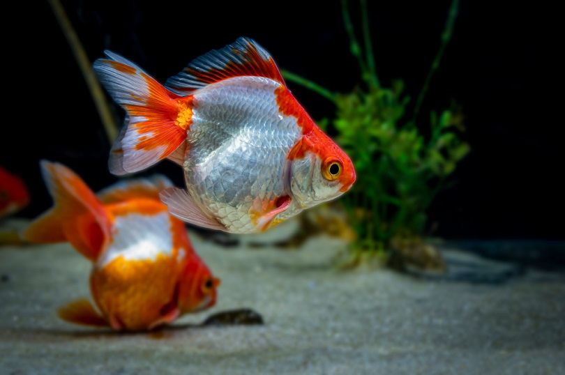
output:
[[118, 203], [136, 198], [149, 198], [160, 201], [159, 192], [172, 187], [169, 178], [156, 174], [151, 178], [137, 178], [135, 180], [119, 181], [114, 185], [100, 190], [98, 198], [105, 204]]

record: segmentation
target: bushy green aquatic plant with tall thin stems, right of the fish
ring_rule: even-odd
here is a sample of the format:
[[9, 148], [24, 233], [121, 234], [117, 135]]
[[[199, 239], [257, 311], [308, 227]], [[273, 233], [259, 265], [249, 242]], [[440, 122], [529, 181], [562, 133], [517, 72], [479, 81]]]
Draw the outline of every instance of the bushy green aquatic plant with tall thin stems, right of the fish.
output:
[[335, 104], [335, 117], [320, 123], [336, 134], [338, 144], [356, 168], [354, 188], [340, 200], [357, 235], [349, 263], [376, 255], [400, 268], [411, 263], [428, 268], [442, 265], [437, 252], [421, 240], [426, 211], [469, 152], [469, 145], [460, 138], [464, 128], [458, 109], [431, 112], [428, 123], [416, 119], [420, 118], [425, 94], [451, 39], [457, 12], [458, 0], [453, 0], [439, 52], [414, 106], [402, 92], [402, 81], [394, 82], [392, 87], [379, 82], [365, 0], [361, 0], [363, 47], [356, 39], [347, 0], [342, 0], [350, 51], [361, 68], [361, 84], [356, 89], [333, 93], [308, 79], [283, 72], [289, 82], [306, 86]]

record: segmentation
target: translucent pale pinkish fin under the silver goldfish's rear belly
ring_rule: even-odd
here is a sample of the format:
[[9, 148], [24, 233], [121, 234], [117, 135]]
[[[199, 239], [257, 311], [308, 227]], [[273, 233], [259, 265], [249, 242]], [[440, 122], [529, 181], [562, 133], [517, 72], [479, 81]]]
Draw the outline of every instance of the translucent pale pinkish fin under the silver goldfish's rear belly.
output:
[[225, 231], [225, 227], [214, 218], [208, 217], [195, 204], [186, 190], [167, 188], [159, 194], [161, 201], [169, 208], [171, 215], [197, 227]]

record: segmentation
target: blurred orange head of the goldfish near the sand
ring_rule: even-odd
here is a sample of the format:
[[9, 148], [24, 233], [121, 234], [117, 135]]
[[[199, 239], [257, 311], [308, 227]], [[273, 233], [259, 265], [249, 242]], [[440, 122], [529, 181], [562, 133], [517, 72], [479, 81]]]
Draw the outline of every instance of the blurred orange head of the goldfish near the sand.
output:
[[186, 260], [179, 283], [179, 309], [182, 314], [199, 312], [216, 305], [220, 279], [214, 277], [195, 252]]

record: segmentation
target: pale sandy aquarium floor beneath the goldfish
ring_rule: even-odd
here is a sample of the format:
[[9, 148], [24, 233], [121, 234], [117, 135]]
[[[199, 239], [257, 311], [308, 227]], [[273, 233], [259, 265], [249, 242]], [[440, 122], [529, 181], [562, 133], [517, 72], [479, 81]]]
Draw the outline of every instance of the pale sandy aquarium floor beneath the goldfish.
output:
[[[342, 273], [338, 240], [225, 250], [193, 236], [218, 305], [158, 334], [59, 321], [88, 295], [68, 245], [0, 248], [0, 374], [565, 374], [565, 280], [445, 250], [446, 277]], [[199, 327], [250, 307], [264, 326]]]

